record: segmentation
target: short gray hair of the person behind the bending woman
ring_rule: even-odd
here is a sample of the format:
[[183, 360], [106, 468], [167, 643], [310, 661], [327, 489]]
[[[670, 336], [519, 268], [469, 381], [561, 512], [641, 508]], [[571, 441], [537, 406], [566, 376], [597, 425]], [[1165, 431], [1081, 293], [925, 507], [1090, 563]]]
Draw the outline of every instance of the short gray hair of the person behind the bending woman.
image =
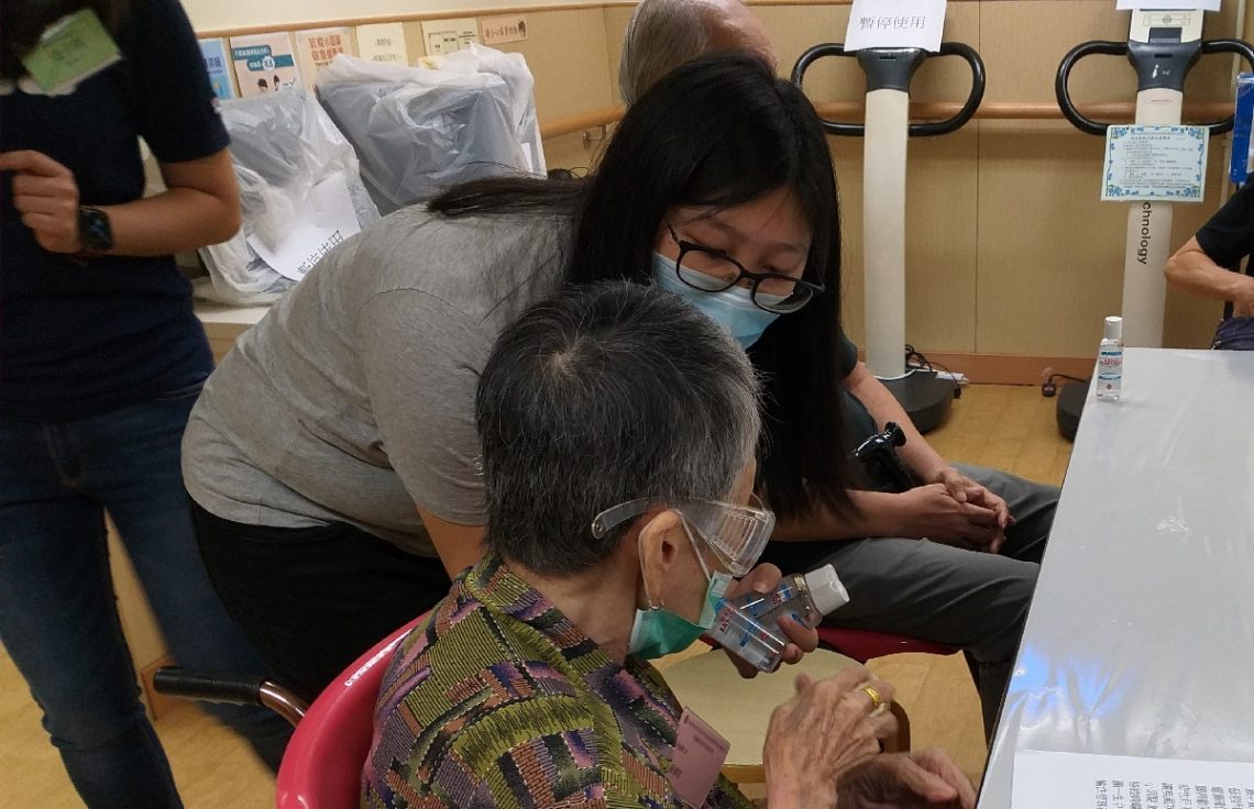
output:
[[635, 104], [657, 80], [710, 46], [711, 8], [701, 0], [641, 0], [623, 35], [618, 90]]

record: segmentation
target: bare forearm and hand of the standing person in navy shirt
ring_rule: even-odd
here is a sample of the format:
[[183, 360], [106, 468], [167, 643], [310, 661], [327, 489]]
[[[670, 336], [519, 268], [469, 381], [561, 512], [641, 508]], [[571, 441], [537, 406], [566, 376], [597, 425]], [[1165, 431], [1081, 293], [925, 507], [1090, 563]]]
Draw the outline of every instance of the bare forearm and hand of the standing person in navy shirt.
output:
[[[14, 207], [39, 244], [51, 253], [83, 250], [74, 173], [41, 152], [0, 154], [0, 170], [14, 173]], [[109, 215], [110, 255], [166, 255], [229, 239], [240, 229], [240, 192], [231, 154], [162, 163], [167, 190], [117, 205], [93, 205]]]

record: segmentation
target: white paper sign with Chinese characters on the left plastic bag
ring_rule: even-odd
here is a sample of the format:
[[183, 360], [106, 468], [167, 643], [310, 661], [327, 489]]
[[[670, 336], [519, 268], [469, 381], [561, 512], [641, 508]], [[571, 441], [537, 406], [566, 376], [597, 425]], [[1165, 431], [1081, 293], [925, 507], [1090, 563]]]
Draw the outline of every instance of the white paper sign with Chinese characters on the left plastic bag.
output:
[[278, 274], [300, 281], [332, 247], [360, 230], [349, 180], [336, 172], [314, 187], [296, 212], [295, 227], [278, 244], [271, 248], [251, 235], [248, 247]]

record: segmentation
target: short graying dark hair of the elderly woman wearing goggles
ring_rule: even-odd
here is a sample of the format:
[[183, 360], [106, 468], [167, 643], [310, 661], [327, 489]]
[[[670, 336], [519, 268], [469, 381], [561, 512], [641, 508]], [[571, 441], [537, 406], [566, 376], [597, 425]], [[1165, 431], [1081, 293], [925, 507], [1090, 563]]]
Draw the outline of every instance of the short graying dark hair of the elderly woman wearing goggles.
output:
[[754, 457], [759, 381], [717, 323], [673, 293], [571, 288], [507, 328], [475, 396], [488, 547], [547, 575], [607, 559], [643, 497], [726, 500]]

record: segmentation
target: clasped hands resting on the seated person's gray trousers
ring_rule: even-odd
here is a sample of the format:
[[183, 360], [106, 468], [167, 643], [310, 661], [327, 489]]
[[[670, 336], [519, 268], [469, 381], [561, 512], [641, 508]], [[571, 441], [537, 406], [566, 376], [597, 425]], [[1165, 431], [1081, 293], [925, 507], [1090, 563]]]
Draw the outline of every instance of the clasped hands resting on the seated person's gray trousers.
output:
[[964, 490], [963, 500], [958, 500], [944, 483], [928, 483], [897, 497], [903, 536], [978, 551], [1001, 547], [1004, 531], [998, 513], [983, 503], [974, 488]]

